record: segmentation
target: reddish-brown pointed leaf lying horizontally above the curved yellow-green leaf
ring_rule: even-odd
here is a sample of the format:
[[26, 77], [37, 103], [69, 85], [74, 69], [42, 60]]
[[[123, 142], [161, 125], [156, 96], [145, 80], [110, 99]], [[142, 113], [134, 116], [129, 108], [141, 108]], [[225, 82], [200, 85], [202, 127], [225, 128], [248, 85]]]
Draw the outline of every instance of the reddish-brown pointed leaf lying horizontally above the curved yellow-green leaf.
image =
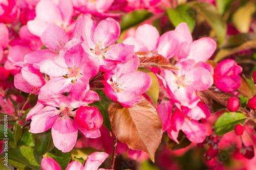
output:
[[145, 68], [147, 66], [162, 68], [162, 69], [179, 69], [169, 63], [167, 59], [158, 53], [154, 52], [136, 52], [140, 59], [139, 67]]

